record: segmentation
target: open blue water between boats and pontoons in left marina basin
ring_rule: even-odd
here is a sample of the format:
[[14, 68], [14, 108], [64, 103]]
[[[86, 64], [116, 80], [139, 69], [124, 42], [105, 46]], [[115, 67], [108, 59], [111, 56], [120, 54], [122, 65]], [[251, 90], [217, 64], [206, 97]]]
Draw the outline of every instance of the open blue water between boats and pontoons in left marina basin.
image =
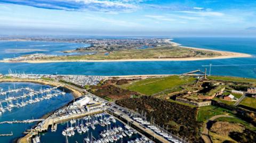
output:
[[[0, 83], [0, 87], [3, 91], [6, 91], [10, 88], [14, 88], [14, 84], [16, 88], [21, 87], [30, 87], [34, 90], [39, 90], [40, 88], [50, 88], [50, 86], [39, 85], [36, 83], [27, 83], [27, 82], [2, 82]], [[10, 97], [20, 96], [23, 94], [23, 91], [17, 92], [15, 94], [10, 94]], [[7, 95], [8, 96], [8, 95]], [[64, 98], [63, 98], [64, 97]], [[4, 99], [5, 96], [0, 95], [0, 99]], [[12, 120], [27, 120], [27, 119], [39, 119], [44, 114], [49, 113], [58, 109], [59, 107], [67, 104], [73, 99], [71, 94], [66, 94], [64, 96], [52, 97], [49, 100], [42, 100], [38, 103], [29, 104], [20, 108], [13, 108], [11, 112], [6, 111], [2, 115], [0, 115], [0, 122], [2, 121], [12, 121]], [[25, 100], [26, 101], [26, 100]], [[13, 101], [13, 104], [16, 102]], [[5, 106], [3, 104], [3, 106]], [[15, 123], [15, 124], [0, 124], [0, 133], [11, 133], [13, 132], [13, 136], [0, 137], [0, 142], [12, 142], [15, 138], [23, 136], [22, 132], [26, 129], [30, 129], [33, 127], [35, 123]]]

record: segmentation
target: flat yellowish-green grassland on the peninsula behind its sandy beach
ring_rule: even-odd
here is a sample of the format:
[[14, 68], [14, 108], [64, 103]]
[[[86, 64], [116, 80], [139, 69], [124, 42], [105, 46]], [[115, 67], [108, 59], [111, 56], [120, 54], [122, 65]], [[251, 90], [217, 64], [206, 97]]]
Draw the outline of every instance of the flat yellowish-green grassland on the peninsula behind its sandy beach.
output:
[[99, 52], [94, 55], [79, 56], [57, 56], [47, 57], [43, 60], [127, 60], [127, 59], [147, 59], [147, 58], [187, 58], [187, 57], [214, 57], [220, 56], [220, 53], [203, 51], [197, 49], [183, 48], [179, 46], [166, 45], [156, 48], [131, 49], [123, 51]]

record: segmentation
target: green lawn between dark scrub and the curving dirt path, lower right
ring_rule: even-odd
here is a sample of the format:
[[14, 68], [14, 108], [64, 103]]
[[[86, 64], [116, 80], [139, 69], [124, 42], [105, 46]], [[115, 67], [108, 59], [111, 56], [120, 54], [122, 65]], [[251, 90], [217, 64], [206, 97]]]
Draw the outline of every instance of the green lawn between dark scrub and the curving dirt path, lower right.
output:
[[231, 111], [225, 108], [216, 107], [213, 105], [199, 107], [197, 121], [204, 122], [215, 115], [232, 114]]

